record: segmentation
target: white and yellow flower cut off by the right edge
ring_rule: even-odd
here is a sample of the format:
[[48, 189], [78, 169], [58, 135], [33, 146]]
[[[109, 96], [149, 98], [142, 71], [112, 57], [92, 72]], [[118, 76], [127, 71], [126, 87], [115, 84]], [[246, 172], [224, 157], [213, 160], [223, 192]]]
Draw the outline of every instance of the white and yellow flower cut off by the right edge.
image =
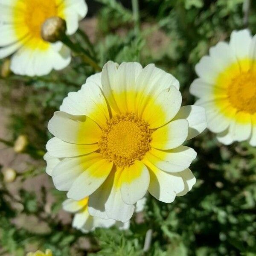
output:
[[256, 146], [256, 35], [233, 31], [195, 66], [190, 92], [200, 98], [207, 127], [226, 145], [247, 140]]

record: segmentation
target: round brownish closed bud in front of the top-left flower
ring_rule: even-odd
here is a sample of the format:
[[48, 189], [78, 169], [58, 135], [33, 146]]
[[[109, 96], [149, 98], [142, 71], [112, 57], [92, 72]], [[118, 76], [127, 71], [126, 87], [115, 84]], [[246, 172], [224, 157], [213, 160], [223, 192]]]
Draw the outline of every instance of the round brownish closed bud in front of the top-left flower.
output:
[[55, 43], [60, 41], [67, 29], [66, 21], [60, 17], [50, 17], [41, 27], [41, 37], [44, 41]]

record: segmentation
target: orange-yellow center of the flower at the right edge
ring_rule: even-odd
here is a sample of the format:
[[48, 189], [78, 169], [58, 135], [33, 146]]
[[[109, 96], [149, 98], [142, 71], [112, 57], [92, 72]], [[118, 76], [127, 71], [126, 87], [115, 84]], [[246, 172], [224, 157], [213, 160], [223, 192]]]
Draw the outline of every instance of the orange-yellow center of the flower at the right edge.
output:
[[248, 71], [233, 77], [227, 95], [231, 105], [238, 111], [256, 113], [256, 73]]

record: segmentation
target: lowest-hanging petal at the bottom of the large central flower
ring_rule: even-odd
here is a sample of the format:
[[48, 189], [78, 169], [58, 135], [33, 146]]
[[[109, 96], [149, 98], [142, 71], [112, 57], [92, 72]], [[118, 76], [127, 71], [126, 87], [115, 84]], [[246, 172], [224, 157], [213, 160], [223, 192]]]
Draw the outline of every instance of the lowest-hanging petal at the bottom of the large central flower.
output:
[[135, 206], [125, 204], [121, 197], [120, 183], [121, 183], [121, 169], [112, 172], [109, 178], [105, 181], [111, 187], [110, 195], [105, 203], [106, 213], [109, 218], [117, 221], [126, 222], [134, 213]]

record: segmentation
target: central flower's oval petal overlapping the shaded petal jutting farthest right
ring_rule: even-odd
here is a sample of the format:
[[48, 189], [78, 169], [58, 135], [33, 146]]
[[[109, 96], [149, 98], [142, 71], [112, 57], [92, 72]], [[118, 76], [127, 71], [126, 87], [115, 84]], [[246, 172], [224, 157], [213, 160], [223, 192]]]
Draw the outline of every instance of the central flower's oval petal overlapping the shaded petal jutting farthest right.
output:
[[180, 146], [188, 136], [189, 123], [186, 119], [169, 122], [152, 133], [151, 145], [159, 149], [172, 149]]

